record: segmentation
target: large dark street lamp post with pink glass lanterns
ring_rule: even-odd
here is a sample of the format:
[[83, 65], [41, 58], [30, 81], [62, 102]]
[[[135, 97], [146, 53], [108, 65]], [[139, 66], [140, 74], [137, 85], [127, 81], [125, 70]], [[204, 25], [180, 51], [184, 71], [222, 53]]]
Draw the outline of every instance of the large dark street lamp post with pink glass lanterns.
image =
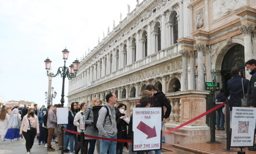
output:
[[[64, 106], [64, 86], [65, 86], [65, 78], [68, 77], [68, 80], [71, 80], [72, 78], [75, 78], [76, 77], [76, 73], [79, 69], [79, 66], [80, 66], [80, 62], [79, 60], [75, 60], [73, 62], [73, 64], [71, 64], [69, 66], [70, 70], [68, 69], [68, 67], [66, 67], [66, 60], [68, 59], [68, 53], [69, 51], [65, 48], [63, 51], [62, 51], [62, 56], [63, 56], [63, 59], [64, 59], [64, 66], [63, 67], [59, 67], [58, 70], [57, 70], [57, 73], [54, 75], [52, 72], [49, 72], [50, 68], [51, 68], [51, 60], [50, 59], [46, 59], [44, 60], [44, 63], [45, 63], [45, 69], [47, 70], [47, 76], [50, 76], [50, 77], [55, 77], [57, 76], [58, 74], [60, 74], [60, 76], [62, 77], [62, 93], [61, 93], [61, 104], [62, 106]], [[56, 93], [57, 94], [57, 93]]]

